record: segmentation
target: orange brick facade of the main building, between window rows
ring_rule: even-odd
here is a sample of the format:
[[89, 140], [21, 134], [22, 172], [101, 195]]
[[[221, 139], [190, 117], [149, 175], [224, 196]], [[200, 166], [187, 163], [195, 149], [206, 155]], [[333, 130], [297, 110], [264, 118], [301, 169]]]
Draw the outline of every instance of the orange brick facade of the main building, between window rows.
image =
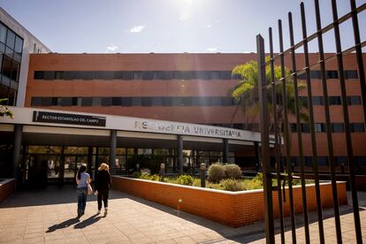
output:
[[[333, 54], [326, 54], [326, 57]], [[366, 55], [364, 64], [366, 64]], [[35, 71], [231, 71], [233, 67], [256, 60], [255, 54], [34, 54], [30, 57], [26, 106], [32, 97], [123, 97], [123, 96], [227, 96], [237, 80], [34, 80]], [[317, 54], [310, 55], [310, 64], [316, 63]], [[296, 56], [297, 67], [302, 69], [304, 57]], [[344, 57], [345, 70], [357, 70], [355, 54]], [[291, 67], [286, 58], [286, 67]], [[336, 71], [337, 63], [326, 64], [326, 70]], [[319, 70], [319, 68], [314, 68]], [[321, 80], [311, 81], [312, 92], [322, 96]], [[347, 95], [361, 95], [358, 79], [348, 79]], [[327, 80], [328, 94], [340, 95], [339, 81]], [[301, 90], [306, 95], [306, 89]], [[247, 118], [236, 111], [236, 106], [52, 106], [42, 107], [66, 111], [85, 111], [139, 118], [156, 118], [197, 124], [246, 123]], [[348, 106], [350, 123], [363, 123], [362, 105]], [[314, 107], [315, 122], [325, 123], [324, 106]], [[343, 123], [341, 105], [330, 106], [332, 123]], [[255, 121], [258, 123], [258, 119]], [[294, 116], [290, 116], [294, 123]], [[347, 156], [344, 133], [332, 133], [335, 156]], [[298, 156], [296, 133], [291, 134], [291, 155]], [[310, 133], [302, 133], [304, 156], [312, 156]], [[365, 133], [352, 133], [355, 156], [366, 156]], [[318, 156], [327, 156], [326, 133], [316, 133]], [[236, 156], [253, 156], [254, 152], [236, 152]]]

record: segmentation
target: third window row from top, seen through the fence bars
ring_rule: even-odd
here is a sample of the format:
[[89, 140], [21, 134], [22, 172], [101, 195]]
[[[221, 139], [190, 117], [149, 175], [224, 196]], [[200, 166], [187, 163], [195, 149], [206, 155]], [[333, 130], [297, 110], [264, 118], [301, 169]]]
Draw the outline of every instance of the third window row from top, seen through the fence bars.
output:
[[[297, 125], [292, 123], [290, 124], [291, 132], [297, 132]], [[343, 133], [345, 131], [345, 125], [343, 123], [331, 123], [332, 133]], [[324, 133], [326, 132], [324, 123], [314, 123], [314, 130], [316, 133]], [[351, 133], [362, 133], [365, 131], [365, 127], [363, 123], [350, 123], [349, 130]], [[301, 133], [310, 133], [309, 124], [301, 124]]]

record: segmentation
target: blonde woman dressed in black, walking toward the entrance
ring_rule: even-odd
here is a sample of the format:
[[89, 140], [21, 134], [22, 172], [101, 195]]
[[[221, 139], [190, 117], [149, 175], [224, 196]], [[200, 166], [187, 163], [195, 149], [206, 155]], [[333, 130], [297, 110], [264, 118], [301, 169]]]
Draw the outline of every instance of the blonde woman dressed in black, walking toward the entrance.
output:
[[104, 204], [104, 216], [108, 214], [108, 196], [111, 190], [111, 173], [108, 164], [101, 164], [95, 176], [95, 191], [98, 194], [98, 214], [102, 210], [102, 199]]

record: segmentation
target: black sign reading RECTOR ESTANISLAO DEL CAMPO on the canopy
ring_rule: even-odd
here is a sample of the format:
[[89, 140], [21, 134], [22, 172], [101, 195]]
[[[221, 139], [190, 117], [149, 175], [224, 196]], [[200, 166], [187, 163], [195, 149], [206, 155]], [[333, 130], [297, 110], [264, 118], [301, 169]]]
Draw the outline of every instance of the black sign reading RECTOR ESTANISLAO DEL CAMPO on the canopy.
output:
[[101, 116], [89, 116], [46, 111], [33, 112], [33, 122], [105, 127], [105, 121], [106, 118]]

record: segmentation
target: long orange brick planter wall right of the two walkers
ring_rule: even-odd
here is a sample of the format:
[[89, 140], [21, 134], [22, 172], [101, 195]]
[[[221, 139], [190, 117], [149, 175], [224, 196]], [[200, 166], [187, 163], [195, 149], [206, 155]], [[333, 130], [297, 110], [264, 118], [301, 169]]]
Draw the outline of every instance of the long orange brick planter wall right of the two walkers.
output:
[[[163, 205], [205, 217], [224, 225], [239, 227], [250, 225], [264, 218], [263, 190], [227, 192], [222, 190], [187, 187], [145, 179], [112, 177], [112, 186], [118, 191], [158, 202]], [[323, 208], [332, 207], [332, 185], [322, 183], [321, 197]], [[346, 183], [338, 182], [339, 205], [347, 204]], [[308, 209], [316, 210], [316, 191], [314, 185], [307, 186]], [[274, 215], [278, 217], [277, 191], [273, 192]], [[302, 211], [301, 187], [294, 187], [294, 210]], [[283, 204], [284, 216], [289, 216], [288, 191]]]

